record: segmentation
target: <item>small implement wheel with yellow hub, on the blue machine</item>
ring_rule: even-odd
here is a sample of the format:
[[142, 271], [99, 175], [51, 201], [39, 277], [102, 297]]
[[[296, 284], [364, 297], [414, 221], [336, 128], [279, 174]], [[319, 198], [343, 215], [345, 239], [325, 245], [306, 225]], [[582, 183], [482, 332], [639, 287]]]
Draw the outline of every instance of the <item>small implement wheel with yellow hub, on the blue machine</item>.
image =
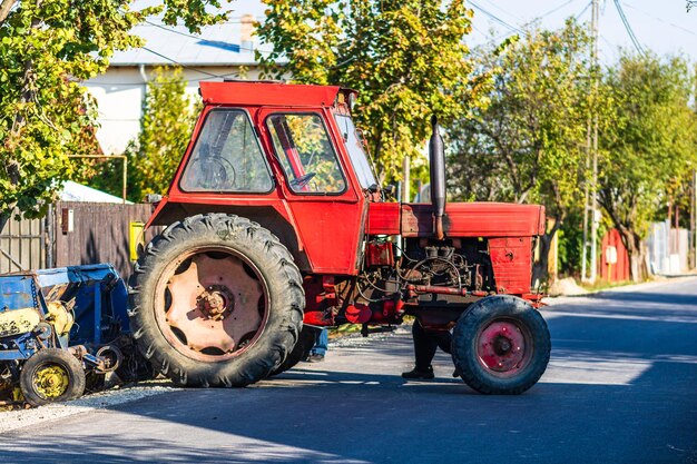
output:
[[80, 362], [57, 348], [37, 352], [27, 359], [19, 376], [22, 395], [32, 406], [78, 398], [85, 393], [85, 383]]

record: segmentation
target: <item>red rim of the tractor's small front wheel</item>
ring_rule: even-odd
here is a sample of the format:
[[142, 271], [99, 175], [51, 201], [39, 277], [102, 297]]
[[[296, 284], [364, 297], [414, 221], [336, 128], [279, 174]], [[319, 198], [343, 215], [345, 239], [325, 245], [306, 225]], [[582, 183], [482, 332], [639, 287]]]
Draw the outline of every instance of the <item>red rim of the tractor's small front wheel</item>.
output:
[[480, 363], [499, 377], [518, 374], [528, 365], [532, 349], [529, 330], [513, 319], [495, 319], [477, 337]]

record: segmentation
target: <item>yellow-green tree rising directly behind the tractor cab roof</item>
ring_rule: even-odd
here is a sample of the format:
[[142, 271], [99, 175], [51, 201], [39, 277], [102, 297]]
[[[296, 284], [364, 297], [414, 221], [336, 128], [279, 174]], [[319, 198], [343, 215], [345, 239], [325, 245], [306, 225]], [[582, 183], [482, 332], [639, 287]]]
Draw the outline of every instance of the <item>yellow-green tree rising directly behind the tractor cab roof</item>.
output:
[[382, 178], [422, 157], [430, 115], [448, 122], [481, 103], [487, 77], [473, 76], [463, 43], [472, 17], [463, 0], [265, 3], [266, 73], [359, 90], [355, 116]]

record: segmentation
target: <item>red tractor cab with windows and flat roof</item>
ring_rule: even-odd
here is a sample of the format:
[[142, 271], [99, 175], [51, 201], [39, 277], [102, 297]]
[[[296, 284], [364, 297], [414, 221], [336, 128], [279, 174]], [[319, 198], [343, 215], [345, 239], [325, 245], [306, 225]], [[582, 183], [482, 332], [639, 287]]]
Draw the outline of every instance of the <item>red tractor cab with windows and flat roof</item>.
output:
[[379, 188], [351, 119], [353, 93], [202, 82], [192, 142], [149, 225], [210, 210], [244, 214], [289, 244], [303, 272], [357, 274], [367, 201]]

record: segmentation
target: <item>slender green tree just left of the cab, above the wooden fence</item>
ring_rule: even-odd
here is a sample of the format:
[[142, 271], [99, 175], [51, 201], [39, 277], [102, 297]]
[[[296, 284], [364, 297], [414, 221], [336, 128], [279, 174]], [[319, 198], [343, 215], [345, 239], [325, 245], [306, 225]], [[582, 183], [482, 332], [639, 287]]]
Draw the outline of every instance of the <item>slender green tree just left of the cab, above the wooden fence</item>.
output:
[[[165, 194], [174, 178], [198, 112], [185, 89], [180, 68], [155, 68], [144, 101], [140, 134], [126, 148], [127, 189], [132, 201], [143, 201], [148, 194]], [[120, 176], [121, 161], [104, 162], [90, 185], [120, 196]]]

